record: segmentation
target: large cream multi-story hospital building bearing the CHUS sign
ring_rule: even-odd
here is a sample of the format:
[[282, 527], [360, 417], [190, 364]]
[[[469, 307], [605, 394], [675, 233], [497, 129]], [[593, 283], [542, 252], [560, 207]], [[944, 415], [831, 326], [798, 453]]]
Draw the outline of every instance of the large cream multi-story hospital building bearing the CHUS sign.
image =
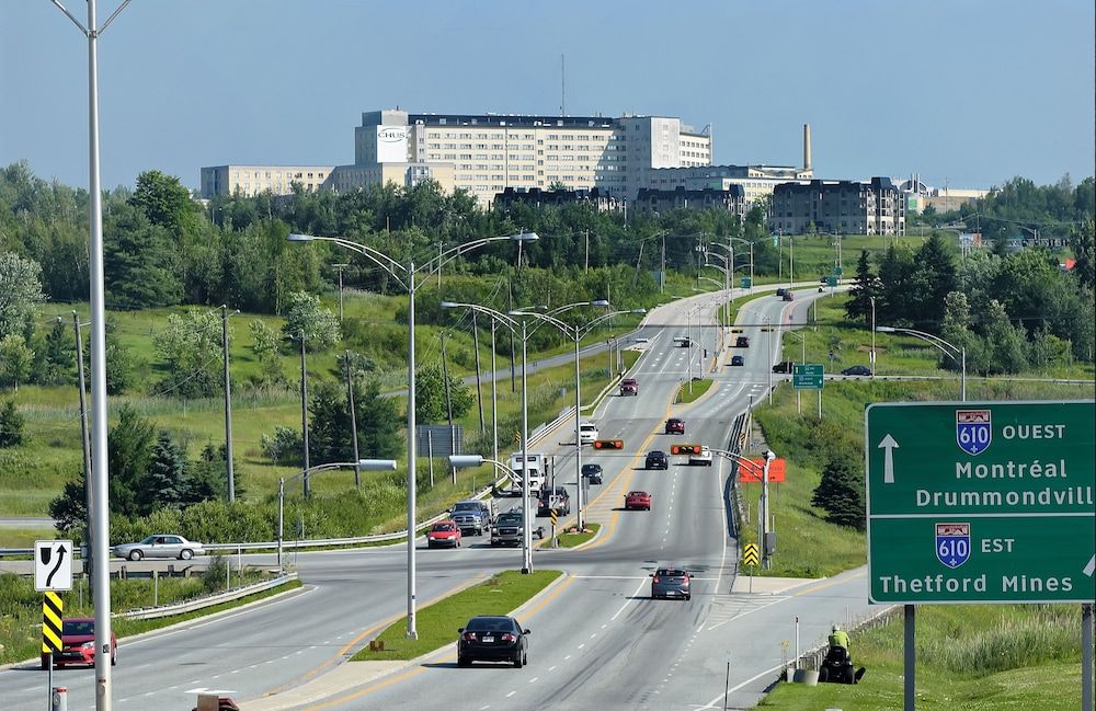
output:
[[335, 168], [349, 190], [398, 179], [436, 180], [464, 188], [481, 205], [507, 187], [596, 187], [635, 199], [662, 168], [711, 163], [711, 137], [661, 116], [522, 116], [507, 114], [362, 114], [354, 164]]

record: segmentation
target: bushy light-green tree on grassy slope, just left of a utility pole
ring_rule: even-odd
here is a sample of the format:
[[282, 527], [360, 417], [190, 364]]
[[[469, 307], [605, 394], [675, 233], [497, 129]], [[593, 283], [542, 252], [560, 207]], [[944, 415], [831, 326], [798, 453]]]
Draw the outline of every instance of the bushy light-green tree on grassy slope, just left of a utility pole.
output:
[[[229, 342], [232, 331], [229, 329]], [[172, 313], [152, 343], [167, 364], [160, 387], [182, 398], [208, 398], [224, 387], [221, 318], [216, 311]]]

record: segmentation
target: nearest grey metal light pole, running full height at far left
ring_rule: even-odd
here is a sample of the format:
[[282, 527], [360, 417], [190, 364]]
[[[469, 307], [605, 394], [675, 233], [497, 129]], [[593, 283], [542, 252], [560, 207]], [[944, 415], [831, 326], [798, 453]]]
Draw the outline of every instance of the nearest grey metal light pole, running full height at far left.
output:
[[[59, 0], [54, 4], [88, 38], [88, 199], [89, 283], [91, 285], [91, 551], [93, 561], [110, 560], [110, 498], [106, 462], [106, 298], [103, 278], [103, 191], [99, 174], [99, 37], [118, 16], [129, 0], [102, 25], [95, 16], [95, 0], [88, 0], [84, 26]], [[111, 577], [110, 565], [92, 569], [92, 599], [95, 606], [95, 709], [111, 711]]]

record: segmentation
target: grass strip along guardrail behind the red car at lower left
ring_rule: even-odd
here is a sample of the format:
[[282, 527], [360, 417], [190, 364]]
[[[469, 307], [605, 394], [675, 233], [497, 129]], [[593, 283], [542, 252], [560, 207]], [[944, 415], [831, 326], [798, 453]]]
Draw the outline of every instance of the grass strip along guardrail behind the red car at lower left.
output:
[[[265, 577], [264, 573], [246, 567], [242, 582], [243, 584], [254, 583]], [[217, 583], [217, 589], [224, 589], [224, 580], [218, 580]], [[241, 584], [235, 569], [232, 584]], [[300, 587], [300, 582], [293, 581], [273, 590], [256, 593], [238, 600], [169, 618], [156, 620], [115, 618], [111, 627], [122, 640], [133, 634], [158, 630], [186, 620], [206, 617], [220, 610], [240, 607], [297, 587]], [[201, 576], [161, 577], [159, 595], [156, 599], [160, 605], [168, 605], [193, 599], [204, 594], [206, 594], [206, 589]], [[65, 617], [92, 617], [94, 615], [88, 595], [87, 582], [82, 578], [73, 582], [72, 590], [61, 593], [61, 600], [65, 605]], [[151, 578], [111, 580], [111, 608], [113, 610], [151, 607], [152, 603], [153, 583]], [[4, 610], [3, 615], [0, 616], [0, 664], [36, 658], [42, 649], [42, 594], [34, 590], [34, 582], [28, 577], [20, 577], [11, 573], [0, 574], [0, 609]], [[122, 644], [119, 643], [119, 646]]]

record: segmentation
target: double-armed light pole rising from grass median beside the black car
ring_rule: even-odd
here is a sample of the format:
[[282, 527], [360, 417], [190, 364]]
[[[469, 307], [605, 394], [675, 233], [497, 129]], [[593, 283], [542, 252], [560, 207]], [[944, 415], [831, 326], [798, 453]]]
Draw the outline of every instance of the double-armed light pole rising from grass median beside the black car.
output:
[[414, 262], [410, 262], [407, 265], [397, 262], [391, 256], [388, 256], [384, 252], [376, 250], [372, 246], [365, 244], [359, 244], [357, 242], [352, 242], [350, 240], [344, 240], [338, 237], [317, 237], [313, 234], [298, 234], [290, 233], [288, 236], [288, 241], [290, 242], [333, 242], [339, 246], [361, 254], [365, 259], [369, 260], [381, 270], [387, 272], [396, 282], [407, 291], [408, 294], [408, 629], [407, 637], [409, 639], [418, 639], [419, 631], [416, 627], [415, 612], [418, 607], [418, 600], [415, 599], [415, 548], [414, 548], [414, 532], [415, 532], [415, 489], [418, 482], [418, 462], [415, 461], [415, 354], [414, 354], [414, 295], [418, 284], [415, 277], [419, 274], [424, 274], [429, 276], [435, 270], [441, 270], [445, 264], [457, 259], [461, 254], [465, 254], [473, 249], [483, 246], [484, 244], [490, 244], [491, 242], [498, 242], [503, 240], [516, 241], [518, 244], [522, 242], [532, 242], [537, 238], [536, 232], [520, 232], [517, 234], [507, 234], [504, 237], [488, 237], [479, 240], [473, 240], [471, 242], [466, 242], [464, 244], [458, 244], [457, 246], [450, 248], [445, 252], [439, 252], [436, 261], [431, 260], [425, 264], [421, 264], [415, 267]]

